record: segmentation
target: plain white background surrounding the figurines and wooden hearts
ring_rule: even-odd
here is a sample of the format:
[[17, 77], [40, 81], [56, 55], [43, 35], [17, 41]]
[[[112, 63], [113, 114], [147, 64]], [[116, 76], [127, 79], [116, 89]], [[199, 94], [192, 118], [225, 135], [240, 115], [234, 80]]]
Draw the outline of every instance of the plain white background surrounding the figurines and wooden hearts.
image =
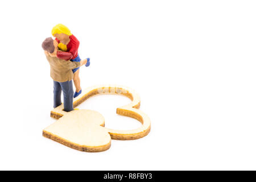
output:
[[[0, 169], [256, 169], [255, 1], [3, 1]], [[41, 44], [63, 23], [80, 40], [81, 86], [119, 84], [141, 96], [151, 132], [73, 150], [42, 137], [55, 122]], [[115, 114], [122, 96], [96, 96], [106, 127], [135, 129]]]

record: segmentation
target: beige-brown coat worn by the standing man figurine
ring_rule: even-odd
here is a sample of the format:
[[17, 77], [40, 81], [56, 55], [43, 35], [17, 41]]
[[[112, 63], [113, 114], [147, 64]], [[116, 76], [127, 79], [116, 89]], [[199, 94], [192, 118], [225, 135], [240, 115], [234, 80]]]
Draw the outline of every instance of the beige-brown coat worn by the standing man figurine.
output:
[[65, 82], [73, 79], [72, 69], [80, 67], [80, 62], [66, 61], [57, 57], [46, 56], [50, 67], [51, 77], [54, 81]]

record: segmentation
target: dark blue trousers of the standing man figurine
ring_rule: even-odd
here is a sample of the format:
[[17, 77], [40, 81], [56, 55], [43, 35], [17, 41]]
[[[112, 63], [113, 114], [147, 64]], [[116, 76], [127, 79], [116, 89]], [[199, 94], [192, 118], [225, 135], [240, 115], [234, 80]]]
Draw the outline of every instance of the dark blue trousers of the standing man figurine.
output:
[[61, 105], [61, 90], [63, 90], [64, 111], [73, 109], [73, 83], [71, 81], [58, 82], [53, 81], [53, 107]]

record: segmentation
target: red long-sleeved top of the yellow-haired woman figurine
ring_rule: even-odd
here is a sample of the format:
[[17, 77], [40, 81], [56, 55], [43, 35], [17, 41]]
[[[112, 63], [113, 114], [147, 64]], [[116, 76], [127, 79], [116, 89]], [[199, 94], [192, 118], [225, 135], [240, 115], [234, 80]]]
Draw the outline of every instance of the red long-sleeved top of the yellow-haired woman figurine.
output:
[[[67, 52], [57, 51], [57, 57], [59, 59], [71, 60], [77, 57], [80, 42], [74, 35], [69, 36], [69, 39], [70, 41], [67, 44]], [[60, 43], [60, 40], [57, 38], [55, 40]]]

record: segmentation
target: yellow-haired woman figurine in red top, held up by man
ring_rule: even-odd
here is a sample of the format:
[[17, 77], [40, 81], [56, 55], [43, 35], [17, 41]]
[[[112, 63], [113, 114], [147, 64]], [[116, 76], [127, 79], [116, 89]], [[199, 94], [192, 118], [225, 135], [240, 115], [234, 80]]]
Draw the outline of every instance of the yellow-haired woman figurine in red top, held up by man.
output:
[[[71, 31], [68, 27], [64, 26], [63, 24], [57, 24], [55, 27], [52, 28], [52, 36], [55, 37], [55, 41], [58, 43], [59, 51], [56, 52], [56, 56], [59, 59], [64, 60], [71, 60], [75, 62], [80, 62], [81, 59], [78, 54], [79, 49], [79, 40], [71, 34]], [[87, 62], [85, 64], [86, 67], [90, 65], [90, 58], [88, 57]], [[72, 69], [74, 73], [73, 82], [76, 87], [76, 92], [74, 94], [74, 98], [79, 96], [82, 93], [82, 89], [80, 86], [80, 77], [79, 77], [79, 68]]]

